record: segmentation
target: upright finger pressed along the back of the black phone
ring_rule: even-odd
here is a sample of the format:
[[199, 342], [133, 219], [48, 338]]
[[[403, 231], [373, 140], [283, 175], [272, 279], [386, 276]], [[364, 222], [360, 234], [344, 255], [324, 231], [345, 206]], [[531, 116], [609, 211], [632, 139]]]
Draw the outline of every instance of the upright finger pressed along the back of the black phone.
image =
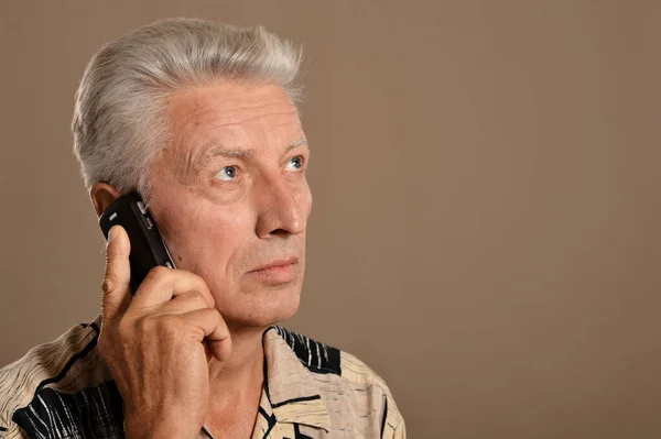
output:
[[112, 226], [108, 232], [108, 245], [106, 246], [106, 276], [104, 277], [104, 297], [101, 299], [104, 320], [120, 317], [130, 303], [130, 252], [131, 242], [126, 230], [121, 226]]

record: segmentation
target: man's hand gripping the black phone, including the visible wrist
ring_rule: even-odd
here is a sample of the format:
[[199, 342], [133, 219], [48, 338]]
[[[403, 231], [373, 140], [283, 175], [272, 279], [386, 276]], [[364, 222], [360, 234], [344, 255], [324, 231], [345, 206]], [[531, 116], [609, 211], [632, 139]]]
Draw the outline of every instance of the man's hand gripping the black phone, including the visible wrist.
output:
[[209, 398], [208, 361], [231, 339], [202, 277], [155, 267], [133, 298], [130, 241], [112, 227], [106, 250], [98, 349], [124, 402], [128, 438], [197, 438]]

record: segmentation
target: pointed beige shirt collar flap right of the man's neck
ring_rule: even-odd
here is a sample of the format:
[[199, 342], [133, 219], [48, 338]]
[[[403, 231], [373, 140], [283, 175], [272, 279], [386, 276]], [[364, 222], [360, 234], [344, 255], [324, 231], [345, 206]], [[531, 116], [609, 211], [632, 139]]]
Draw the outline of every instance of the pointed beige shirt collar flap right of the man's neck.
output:
[[264, 347], [264, 392], [270, 411], [279, 422], [296, 422], [330, 430], [330, 417], [319, 382], [301, 363], [280, 337], [278, 327], [269, 327], [262, 338]]

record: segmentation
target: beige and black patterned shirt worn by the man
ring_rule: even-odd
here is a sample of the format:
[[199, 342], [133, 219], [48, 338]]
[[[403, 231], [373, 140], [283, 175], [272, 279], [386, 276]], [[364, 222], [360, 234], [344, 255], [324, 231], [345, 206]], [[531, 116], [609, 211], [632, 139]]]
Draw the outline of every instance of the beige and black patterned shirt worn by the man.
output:
[[[97, 350], [100, 316], [0, 369], [0, 439], [123, 438], [123, 404]], [[405, 438], [386, 383], [354, 355], [269, 327], [253, 439]], [[212, 438], [203, 427], [199, 438]]]

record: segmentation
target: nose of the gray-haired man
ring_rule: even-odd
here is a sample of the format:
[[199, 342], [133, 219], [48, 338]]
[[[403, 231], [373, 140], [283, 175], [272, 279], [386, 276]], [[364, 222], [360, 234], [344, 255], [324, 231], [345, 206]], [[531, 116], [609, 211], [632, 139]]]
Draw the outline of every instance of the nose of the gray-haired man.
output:
[[270, 178], [257, 187], [257, 226], [259, 238], [299, 234], [305, 230], [310, 209], [305, 189], [286, 179]]

